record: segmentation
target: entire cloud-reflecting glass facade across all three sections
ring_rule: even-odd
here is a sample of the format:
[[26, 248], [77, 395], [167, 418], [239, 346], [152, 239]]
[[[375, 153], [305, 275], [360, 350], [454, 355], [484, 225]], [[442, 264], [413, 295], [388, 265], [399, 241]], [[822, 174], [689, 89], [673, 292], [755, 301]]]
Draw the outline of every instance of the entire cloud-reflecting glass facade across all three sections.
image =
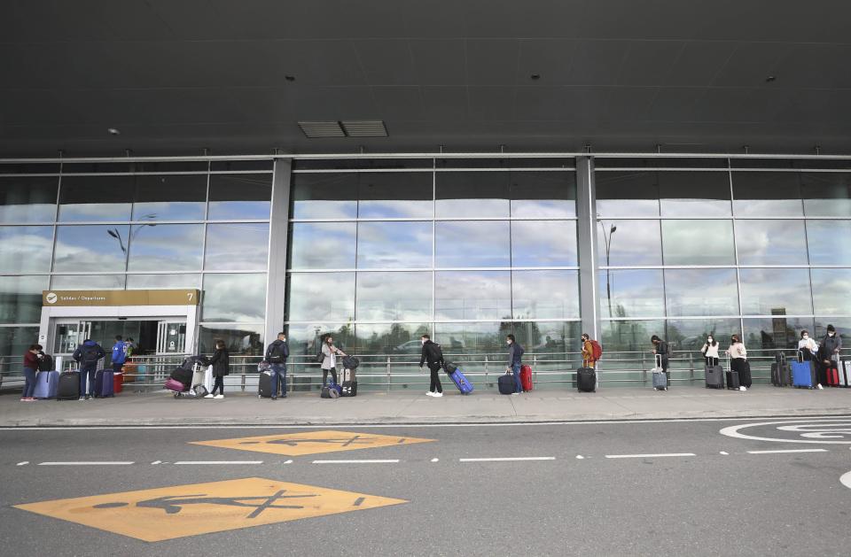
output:
[[[296, 159], [281, 245], [268, 160], [35, 175], [0, 161], [0, 352], [37, 330], [45, 289], [199, 288], [204, 352], [222, 337], [256, 353], [278, 325], [295, 353], [327, 332], [364, 354], [418, 353], [425, 332], [462, 355], [502, 352], [509, 332], [536, 353], [575, 352], [586, 298], [607, 353], [733, 332], [773, 350], [802, 328], [851, 326], [847, 170], [599, 158], [589, 221], [572, 159], [380, 162]], [[593, 263], [579, 227], [595, 230]], [[268, 322], [268, 281], [285, 282], [283, 323]]]

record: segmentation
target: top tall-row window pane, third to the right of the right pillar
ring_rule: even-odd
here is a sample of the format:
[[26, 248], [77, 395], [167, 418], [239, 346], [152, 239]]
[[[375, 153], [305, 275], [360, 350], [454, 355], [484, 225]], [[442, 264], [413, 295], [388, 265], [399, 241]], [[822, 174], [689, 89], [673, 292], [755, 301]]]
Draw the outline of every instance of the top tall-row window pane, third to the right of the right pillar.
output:
[[734, 172], [733, 211], [739, 217], [803, 214], [796, 172]]

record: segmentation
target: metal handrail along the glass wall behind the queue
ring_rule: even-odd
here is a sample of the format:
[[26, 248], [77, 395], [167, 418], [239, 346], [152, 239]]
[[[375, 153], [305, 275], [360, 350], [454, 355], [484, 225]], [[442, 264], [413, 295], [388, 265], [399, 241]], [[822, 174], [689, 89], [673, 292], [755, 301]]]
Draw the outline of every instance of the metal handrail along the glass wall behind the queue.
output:
[[[754, 382], [769, 381], [770, 363], [775, 360], [777, 352], [784, 352], [791, 361], [795, 357], [796, 351], [792, 349], [770, 349], [748, 352], [748, 361], [751, 362]], [[840, 356], [847, 356], [848, 352], [851, 352], [851, 350], [843, 351]], [[383, 386], [386, 391], [390, 391], [393, 387], [406, 389], [428, 383], [426, 373], [410, 371], [411, 367], [418, 366], [419, 359], [416, 354], [378, 353], [360, 354], [358, 357], [362, 361], [362, 366], [358, 368], [357, 375], [366, 380], [363, 382], [363, 386]], [[444, 355], [444, 360], [459, 364], [472, 383], [491, 386], [496, 383], [496, 377], [504, 373], [505, 357], [504, 353], [493, 352], [447, 353]], [[185, 355], [183, 354], [131, 357], [124, 368], [124, 380], [127, 383], [125, 388], [135, 391], [161, 389], [168, 375], [184, 358]], [[527, 363], [532, 365], [535, 383], [570, 383], [575, 387], [573, 372], [582, 361], [580, 352], [527, 352], [524, 358]], [[18, 364], [17, 369], [8, 368], [13, 360], [22, 361], [23, 359], [22, 357], [8, 357], [0, 360], [8, 362], [6, 365], [0, 366], [0, 384], [3, 383], [4, 379], [22, 380], [23, 373], [20, 364]], [[74, 361], [69, 360], [63, 360], [63, 370], [76, 367]], [[257, 364], [261, 360], [261, 356], [230, 356], [230, 379], [227, 383], [230, 383], [231, 387], [237, 386], [241, 391], [255, 387], [259, 375]], [[725, 362], [727, 360], [729, 359], [724, 359]], [[672, 351], [668, 358], [671, 382], [703, 382], [705, 373], [702, 362], [703, 356], [698, 351]], [[597, 362], [598, 382], [601, 384], [639, 383], [647, 385], [651, 380], [648, 371], [652, 367], [653, 359], [650, 352], [619, 351], [604, 354], [604, 357]], [[769, 373], [766, 374], [765, 372]], [[311, 354], [293, 355], [287, 363], [288, 383], [293, 386], [318, 389], [318, 383], [313, 381], [317, 376], [321, 376], [320, 364]], [[305, 378], [308, 381], [304, 381]], [[234, 383], [237, 384], [234, 385]]]

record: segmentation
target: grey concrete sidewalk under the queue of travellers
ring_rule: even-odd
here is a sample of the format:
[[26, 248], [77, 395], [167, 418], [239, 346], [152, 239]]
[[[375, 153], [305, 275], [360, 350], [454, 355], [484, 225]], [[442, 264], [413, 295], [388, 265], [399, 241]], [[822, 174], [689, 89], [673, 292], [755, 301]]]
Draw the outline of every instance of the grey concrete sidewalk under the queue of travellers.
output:
[[474, 392], [463, 397], [447, 392], [443, 398], [365, 392], [337, 400], [296, 393], [275, 402], [248, 394], [229, 394], [221, 400], [176, 399], [168, 391], [62, 402], [20, 402], [11, 393], [0, 395], [0, 427], [562, 422], [816, 414], [851, 414], [851, 390], [758, 385], [746, 392], [617, 388], [515, 396]]

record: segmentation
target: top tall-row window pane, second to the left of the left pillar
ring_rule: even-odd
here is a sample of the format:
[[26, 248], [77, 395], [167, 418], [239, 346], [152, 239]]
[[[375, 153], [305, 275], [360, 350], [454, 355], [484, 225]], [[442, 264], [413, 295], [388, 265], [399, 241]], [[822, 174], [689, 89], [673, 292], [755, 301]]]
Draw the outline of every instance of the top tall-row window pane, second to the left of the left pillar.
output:
[[207, 174], [137, 175], [133, 220], [204, 220]]

